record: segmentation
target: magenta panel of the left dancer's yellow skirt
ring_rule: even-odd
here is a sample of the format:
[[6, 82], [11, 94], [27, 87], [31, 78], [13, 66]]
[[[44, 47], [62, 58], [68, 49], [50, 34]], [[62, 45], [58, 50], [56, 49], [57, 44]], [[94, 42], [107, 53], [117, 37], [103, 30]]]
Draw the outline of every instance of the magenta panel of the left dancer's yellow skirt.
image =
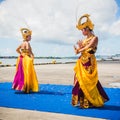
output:
[[13, 89], [22, 90], [24, 86], [24, 72], [23, 72], [23, 65], [22, 65], [23, 57], [20, 57], [18, 63], [18, 69], [13, 81]]

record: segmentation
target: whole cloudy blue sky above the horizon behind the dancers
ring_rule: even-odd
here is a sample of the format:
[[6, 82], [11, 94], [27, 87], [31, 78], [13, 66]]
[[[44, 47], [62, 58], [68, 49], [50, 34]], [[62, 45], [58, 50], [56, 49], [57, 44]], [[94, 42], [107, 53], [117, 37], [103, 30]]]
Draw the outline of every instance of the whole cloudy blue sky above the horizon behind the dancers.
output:
[[32, 30], [35, 56], [75, 56], [83, 39], [76, 24], [86, 13], [99, 38], [96, 54], [120, 54], [120, 0], [0, 0], [0, 56], [18, 55], [23, 27]]

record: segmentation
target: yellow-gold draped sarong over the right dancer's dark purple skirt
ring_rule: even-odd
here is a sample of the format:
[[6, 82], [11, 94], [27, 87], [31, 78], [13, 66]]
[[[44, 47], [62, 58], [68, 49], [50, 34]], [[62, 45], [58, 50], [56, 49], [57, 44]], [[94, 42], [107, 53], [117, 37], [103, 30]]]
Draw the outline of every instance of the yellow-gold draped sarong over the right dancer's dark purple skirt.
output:
[[[90, 65], [84, 65], [90, 62]], [[86, 98], [93, 106], [103, 106], [104, 101], [97, 89], [98, 73], [97, 63], [94, 54], [82, 53], [80, 59], [77, 60], [74, 68], [76, 78], [80, 84], [80, 88]]]

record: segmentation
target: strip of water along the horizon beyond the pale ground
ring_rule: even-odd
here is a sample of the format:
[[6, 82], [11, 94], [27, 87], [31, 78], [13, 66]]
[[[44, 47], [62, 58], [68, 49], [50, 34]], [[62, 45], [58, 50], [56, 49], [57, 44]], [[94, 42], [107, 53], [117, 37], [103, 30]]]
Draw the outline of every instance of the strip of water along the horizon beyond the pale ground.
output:
[[[78, 56], [75, 57], [43, 57], [43, 58], [35, 58], [34, 64], [48, 64], [48, 63], [72, 63], [76, 62]], [[120, 55], [114, 56], [96, 56], [97, 61], [120, 61]], [[17, 58], [15, 57], [0, 57], [0, 65], [15, 65]]]

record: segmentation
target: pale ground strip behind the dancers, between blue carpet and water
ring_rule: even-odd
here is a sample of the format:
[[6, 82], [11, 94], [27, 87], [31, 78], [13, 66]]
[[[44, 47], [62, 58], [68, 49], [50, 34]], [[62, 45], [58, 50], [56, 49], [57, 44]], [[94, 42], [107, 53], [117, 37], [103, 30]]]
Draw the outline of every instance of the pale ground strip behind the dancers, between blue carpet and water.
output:
[[[35, 65], [39, 84], [72, 85], [74, 66], [75, 63]], [[13, 82], [15, 70], [15, 67], [0, 67], [0, 82]], [[98, 75], [103, 87], [115, 87], [116, 83], [119, 85], [120, 61], [98, 62]]]

